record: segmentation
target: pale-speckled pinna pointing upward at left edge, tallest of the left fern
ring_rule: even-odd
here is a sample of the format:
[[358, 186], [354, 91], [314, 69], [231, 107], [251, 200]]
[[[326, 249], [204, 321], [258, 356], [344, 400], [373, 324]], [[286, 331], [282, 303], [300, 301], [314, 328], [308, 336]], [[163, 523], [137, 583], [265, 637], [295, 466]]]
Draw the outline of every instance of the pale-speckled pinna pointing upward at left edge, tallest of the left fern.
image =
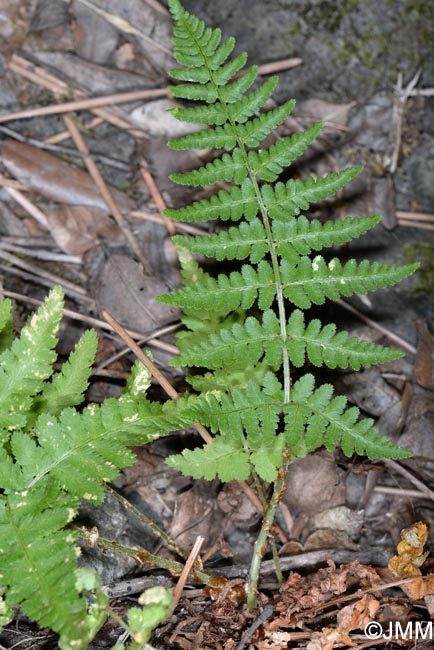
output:
[[62, 292], [55, 288], [29, 317], [20, 338], [0, 355], [0, 427], [24, 426], [33, 397], [51, 376], [62, 308]]

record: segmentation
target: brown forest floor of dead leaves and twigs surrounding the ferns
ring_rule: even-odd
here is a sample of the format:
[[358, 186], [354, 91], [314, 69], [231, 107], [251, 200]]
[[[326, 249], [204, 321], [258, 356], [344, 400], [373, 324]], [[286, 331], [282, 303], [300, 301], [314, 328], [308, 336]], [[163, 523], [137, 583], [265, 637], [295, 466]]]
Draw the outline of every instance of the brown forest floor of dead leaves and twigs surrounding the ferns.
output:
[[[87, 399], [101, 402], [120, 394], [134, 361], [102, 318], [103, 311], [143, 348], [149, 346], [158, 368], [182, 390], [182, 369], [168, 365], [176, 354], [180, 314], [155, 297], [180, 283], [171, 235], [206, 234], [208, 226], [172, 224], [162, 215], [165, 206], [202, 196], [175, 186], [168, 175], [195, 167], [206, 156], [166, 146], [182, 128], [167, 113], [174, 105], [167, 90], [173, 65], [167, 9], [158, 0], [128, 0], [118, 11], [118, 3], [99, 0], [94, 3], [98, 13], [91, 4], [0, 0], [0, 294], [14, 299], [19, 330], [49, 289], [62, 286], [69, 311], [59, 355], [66, 357], [86, 328], [97, 329], [99, 347]], [[168, 559], [178, 558], [155, 538], [146, 519], [187, 552], [198, 537], [204, 538], [203, 571], [222, 580], [213, 587], [187, 582], [173, 615], [155, 632], [156, 648], [386, 647], [383, 639], [363, 633], [369, 620], [387, 631], [391, 621], [405, 629], [410, 621], [429, 622], [434, 616], [432, 596], [424, 597], [414, 580], [397, 584], [405, 573], [388, 568], [403, 529], [410, 529], [416, 540], [413, 559], [434, 546], [434, 70], [420, 54], [428, 47], [426, 34], [421, 34], [417, 63], [407, 58], [400, 65], [389, 56], [388, 78], [381, 77], [382, 83], [376, 68], [369, 92], [362, 94], [354, 79], [348, 84], [342, 80], [345, 65], [339, 82], [336, 69], [331, 81], [324, 61], [336, 54], [330, 39], [322, 33], [317, 42], [300, 40], [303, 25], [313, 20], [308, 12], [299, 15], [291, 47], [279, 32], [267, 54], [261, 46], [267, 39], [261, 11], [264, 6], [269, 10], [269, 29], [276, 36], [282, 17], [289, 21], [285, 2], [250, 2], [249, 20], [257, 20], [249, 27], [250, 36], [243, 28], [243, 3], [217, 3], [214, 9], [199, 0], [186, 4], [208, 12], [214, 26], [226, 20], [225, 34], [234, 33], [245, 47], [257, 36], [256, 49], [249, 48], [250, 62], [261, 64], [263, 78], [282, 73], [279, 101], [292, 95], [299, 100], [280, 135], [325, 122], [295, 174], [364, 165], [349, 191], [309, 213], [322, 218], [383, 215], [373, 232], [336, 253], [421, 262], [418, 274], [398, 287], [319, 310], [326, 321], [406, 353], [381, 367], [324, 378], [374, 418], [382, 433], [415, 455], [399, 463], [368, 462], [320, 450], [294, 461], [275, 530], [285, 580], [278, 584], [267, 556], [258, 608], [252, 613], [243, 596], [261, 520], [254, 486], [246, 490], [237, 482], [194, 481], [168, 467], [164, 461], [169, 454], [200, 444], [194, 432], [137, 449], [136, 464], [114, 482], [116, 494], [139, 517], [108, 493], [102, 507], [83, 506], [80, 523], [97, 527], [101, 537], [121, 546], [144, 547]], [[348, 9], [344, 18], [349, 16]], [[394, 18], [389, 18], [392, 24]], [[360, 37], [358, 21], [360, 16], [345, 29], [355, 29]], [[336, 29], [334, 23], [329, 26], [330, 37], [336, 37]], [[307, 67], [315, 45], [318, 70]], [[384, 63], [380, 36], [377, 45]], [[359, 79], [365, 89], [370, 65], [365, 56]], [[309, 80], [304, 86], [303, 78]], [[157, 381], [152, 393], [163, 396]], [[427, 540], [420, 522], [431, 531]], [[121, 616], [145, 587], [175, 587], [178, 580], [157, 566], [84, 543], [80, 561], [98, 570]], [[428, 558], [423, 573], [430, 568]], [[110, 622], [91, 647], [112, 647], [121, 632]], [[392, 634], [387, 647], [414, 643]], [[431, 648], [432, 643], [432, 638], [419, 639], [417, 647]], [[13, 647], [49, 649], [57, 643], [53, 634], [39, 631], [18, 613], [0, 634], [0, 648]]]

